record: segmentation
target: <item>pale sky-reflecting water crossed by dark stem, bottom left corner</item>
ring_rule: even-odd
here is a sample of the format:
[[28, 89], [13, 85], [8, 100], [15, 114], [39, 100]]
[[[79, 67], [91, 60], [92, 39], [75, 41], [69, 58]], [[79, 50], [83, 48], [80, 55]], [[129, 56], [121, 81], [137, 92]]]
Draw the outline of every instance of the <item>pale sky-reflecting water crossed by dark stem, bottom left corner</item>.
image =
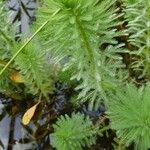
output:
[[12, 111], [15, 111], [15, 106], [9, 104], [9, 100], [0, 99], [0, 150], [34, 148], [36, 142], [20, 142], [21, 139], [30, 139], [29, 133], [21, 124], [21, 114], [10, 115]]

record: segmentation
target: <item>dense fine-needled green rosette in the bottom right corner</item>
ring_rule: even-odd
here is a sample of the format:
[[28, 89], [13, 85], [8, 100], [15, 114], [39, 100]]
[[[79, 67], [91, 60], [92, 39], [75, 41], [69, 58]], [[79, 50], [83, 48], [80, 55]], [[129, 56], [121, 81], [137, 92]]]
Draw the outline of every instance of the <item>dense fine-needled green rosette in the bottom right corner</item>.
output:
[[116, 130], [122, 142], [135, 143], [135, 149], [150, 148], [150, 85], [138, 90], [129, 84], [111, 94], [108, 115], [112, 129]]

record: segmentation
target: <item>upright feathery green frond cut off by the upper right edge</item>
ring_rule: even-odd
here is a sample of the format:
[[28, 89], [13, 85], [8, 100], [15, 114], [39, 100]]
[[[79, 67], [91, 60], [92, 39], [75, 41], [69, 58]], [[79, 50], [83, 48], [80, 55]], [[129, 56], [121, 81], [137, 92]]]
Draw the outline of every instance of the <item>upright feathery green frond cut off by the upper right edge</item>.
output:
[[129, 42], [135, 46], [131, 54], [138, 57], [133, 67], [142, 72], [139, 78], [150, 78], [150, 1], [124, 0], [124, 6], [130, 34]]

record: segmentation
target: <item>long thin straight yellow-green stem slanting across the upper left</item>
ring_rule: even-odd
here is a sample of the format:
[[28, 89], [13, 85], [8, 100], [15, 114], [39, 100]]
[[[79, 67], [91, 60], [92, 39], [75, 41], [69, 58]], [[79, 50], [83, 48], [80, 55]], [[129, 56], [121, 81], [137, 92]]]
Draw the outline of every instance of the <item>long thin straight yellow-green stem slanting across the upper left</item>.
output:
[[[55, 16], [60, 9], [58, 9], [53, 15]], [[3, 74], [3, 72], [7, 69], [7, 67], [13, 62], [13, 60], [18, 56], [18, 54], [32, 41], [32, 39], [49, 23], [51, 19], [45, 21], [38, 29], [37, 31], [22, 45], [22, 47], [14, 54], [14, 56], [9, 60], [9, 62], [4, 66], [4, 68], [0, 71], [0, 76]]]

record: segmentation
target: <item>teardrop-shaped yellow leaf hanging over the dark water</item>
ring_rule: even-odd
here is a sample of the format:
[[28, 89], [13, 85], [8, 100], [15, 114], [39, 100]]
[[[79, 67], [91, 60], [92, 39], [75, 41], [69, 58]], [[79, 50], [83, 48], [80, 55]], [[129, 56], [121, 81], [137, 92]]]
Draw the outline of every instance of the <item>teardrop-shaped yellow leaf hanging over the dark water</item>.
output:
[[22, 123], [24, 125], [28, 125], [32, 119], [32, 117], [34, 116], [35, 110], [37, 108], [37, 106], [39, 105], [40, 102], [38, 102], [37, 104], [35, 104], [34, 106], [32, 106], [30, 109], [28, 109], [25, 114], [22, 117]]

